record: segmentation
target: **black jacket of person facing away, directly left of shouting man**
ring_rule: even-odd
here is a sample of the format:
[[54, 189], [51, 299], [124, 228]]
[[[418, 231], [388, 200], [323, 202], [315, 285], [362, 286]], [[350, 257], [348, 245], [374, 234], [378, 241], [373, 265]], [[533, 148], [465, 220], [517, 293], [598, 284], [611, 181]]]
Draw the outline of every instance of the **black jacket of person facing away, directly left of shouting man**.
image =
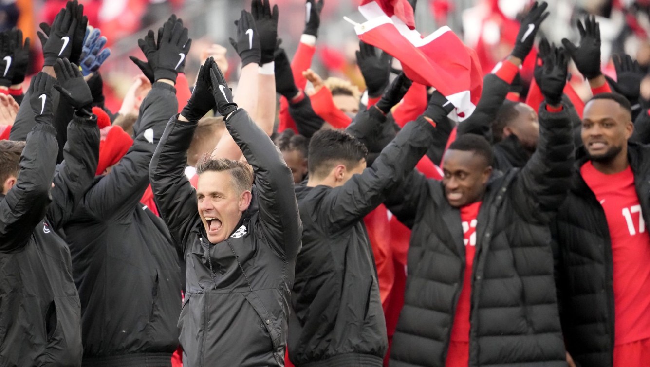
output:
[[170, 366], [178, 347], [179, 253], [163, 221], [140, 204], [153, 151], [177, 108], [174, 86], [153, 83], [133, 146], [96, 177], [64, 227], [82, 305], [84, 366]]

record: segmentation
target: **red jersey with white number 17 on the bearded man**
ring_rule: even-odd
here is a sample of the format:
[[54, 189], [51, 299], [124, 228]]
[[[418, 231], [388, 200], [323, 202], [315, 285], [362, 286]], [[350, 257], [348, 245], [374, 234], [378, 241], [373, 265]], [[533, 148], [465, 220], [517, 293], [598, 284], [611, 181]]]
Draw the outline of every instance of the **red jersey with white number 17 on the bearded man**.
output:
[[606, 175], [586, 162], [580, 173], [603, 206], [612, 239], [614, 344], [650, 338], [650, 237], [632, 169]]

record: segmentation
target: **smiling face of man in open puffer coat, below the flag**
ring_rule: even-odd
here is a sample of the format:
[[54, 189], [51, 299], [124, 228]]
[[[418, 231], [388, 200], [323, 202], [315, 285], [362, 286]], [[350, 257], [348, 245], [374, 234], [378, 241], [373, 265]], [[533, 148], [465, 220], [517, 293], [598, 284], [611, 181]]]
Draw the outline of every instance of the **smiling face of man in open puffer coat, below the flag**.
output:
[[479, 201], [485, 192], [492, 167], [486, 158], [473, 151], [449, 149], [443, 157], [443, 185], [452, 207], [463, 207]]

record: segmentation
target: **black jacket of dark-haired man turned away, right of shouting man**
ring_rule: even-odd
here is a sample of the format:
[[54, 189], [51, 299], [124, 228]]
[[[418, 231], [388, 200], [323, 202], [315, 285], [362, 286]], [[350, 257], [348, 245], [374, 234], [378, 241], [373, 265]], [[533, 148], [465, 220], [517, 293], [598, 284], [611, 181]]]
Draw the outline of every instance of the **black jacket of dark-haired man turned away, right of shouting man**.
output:
[[[439, 129], [451, 131], [450, 123]], [[386, 325], [363, 217], [415, 168], [434, 138], [424, 118], [409, 122], [372, 167], [343, 186], [296, 186], [304, 225], [292, 305], [296, 366], [382, 366]]]

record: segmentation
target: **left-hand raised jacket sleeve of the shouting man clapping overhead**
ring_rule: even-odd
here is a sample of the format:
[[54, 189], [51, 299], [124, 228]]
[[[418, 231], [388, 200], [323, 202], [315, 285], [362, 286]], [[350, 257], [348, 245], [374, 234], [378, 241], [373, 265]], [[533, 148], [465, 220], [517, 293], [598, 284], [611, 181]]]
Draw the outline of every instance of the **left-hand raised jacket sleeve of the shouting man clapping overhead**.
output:
[[190, 148], [198, 123], [177, 119], [178, 115], [167, 123], [153, 153], [149, 177], [158, 212], [175, 243], [185, 253], [191, 230], [201, 221], [196, 209], [196, 190], [185, 176], [187, 149]]

